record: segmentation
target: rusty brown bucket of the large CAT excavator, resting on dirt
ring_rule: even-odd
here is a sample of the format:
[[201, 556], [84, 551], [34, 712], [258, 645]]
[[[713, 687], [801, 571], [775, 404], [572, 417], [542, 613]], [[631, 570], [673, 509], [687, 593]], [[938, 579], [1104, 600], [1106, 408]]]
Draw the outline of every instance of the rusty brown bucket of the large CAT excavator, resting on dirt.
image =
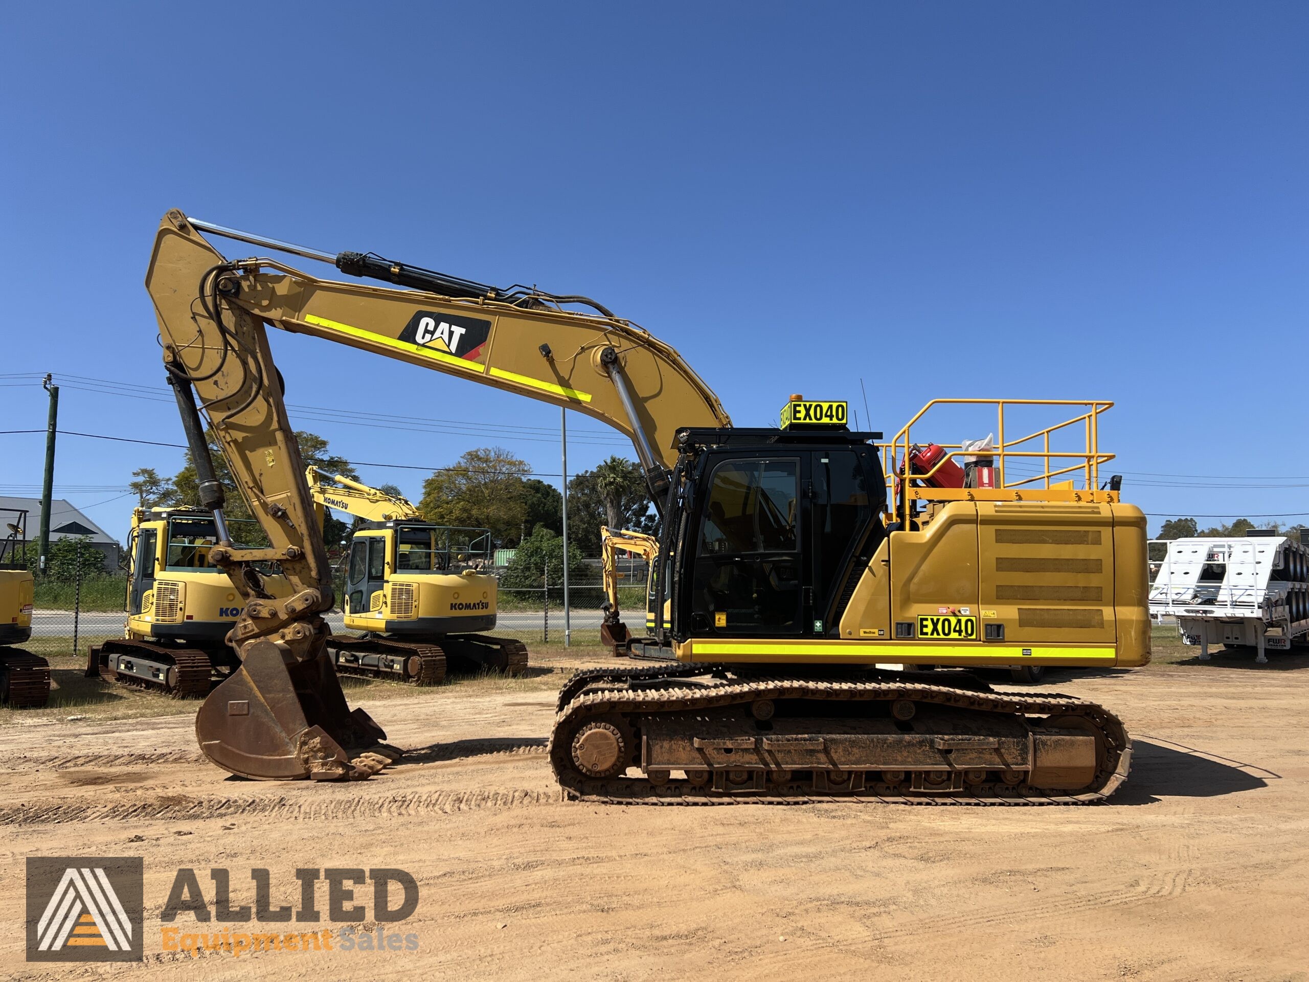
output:
[[363, 780], [401, 755], [367, 712], [346, 704], [326, 652], [288, 665], [272, 642], [250, 646], [209, 694], [195, 736], [213, 763], [255, 780]]

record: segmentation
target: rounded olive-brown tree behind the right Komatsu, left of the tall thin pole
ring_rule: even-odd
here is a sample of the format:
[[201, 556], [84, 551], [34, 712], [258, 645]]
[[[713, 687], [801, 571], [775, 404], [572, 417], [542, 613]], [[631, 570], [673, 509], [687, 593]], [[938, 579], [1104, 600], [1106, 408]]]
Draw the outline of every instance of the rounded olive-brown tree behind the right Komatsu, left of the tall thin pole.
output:
[[503, 446], [469, 450], [423, 482], [419, 511], [439, 525], [491, 529], [497, 546], [517, 542], [528, 518], [526, 461]]

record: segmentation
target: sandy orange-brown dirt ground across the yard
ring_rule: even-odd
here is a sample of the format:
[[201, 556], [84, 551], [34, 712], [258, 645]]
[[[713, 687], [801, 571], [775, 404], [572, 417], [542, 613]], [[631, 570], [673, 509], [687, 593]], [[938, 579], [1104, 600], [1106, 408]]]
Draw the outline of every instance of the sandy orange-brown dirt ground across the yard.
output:
[[[363, 784], [258, 783], [204, 763], [190, 715], [0, 725], [0, 966], [16, 979], [872, 977], [1306, 979], [1309, 657], [1056, 673], [1135, 738], [1084, 808], [596, 807], [545, 744], [556, 670], [351, 698], [408, 749]], [[24, 961], [24, 859], [140, 855], [144, 965]], [[401, 867], [416, 951], [161, 951], [178, 867]], [[325, 886], [319, 884], [321, 897]], [[370, 889], [359, 896], [370, 902]], [[319, 903], [323, 903], [319, 900]], [[188, 914], [182, 931], [194, 930]], [[204, 926], [202, 926], [204, 927]], [[219, 930], [217, 926], [209, 926]], [[372, 927], [370, 922], [365, 927]]]

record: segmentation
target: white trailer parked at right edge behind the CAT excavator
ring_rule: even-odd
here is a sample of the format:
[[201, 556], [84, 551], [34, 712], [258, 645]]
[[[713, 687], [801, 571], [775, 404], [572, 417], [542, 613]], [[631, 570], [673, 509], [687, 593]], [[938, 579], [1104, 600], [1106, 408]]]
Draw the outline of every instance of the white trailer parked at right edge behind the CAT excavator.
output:
[[[1155, 539], [1149, 613], [1185, 644], [1289, 651], [1309, 644], [1309, 549], [1285, 536]], [[1166, 553], [1165, 553], [1166, 549]]]

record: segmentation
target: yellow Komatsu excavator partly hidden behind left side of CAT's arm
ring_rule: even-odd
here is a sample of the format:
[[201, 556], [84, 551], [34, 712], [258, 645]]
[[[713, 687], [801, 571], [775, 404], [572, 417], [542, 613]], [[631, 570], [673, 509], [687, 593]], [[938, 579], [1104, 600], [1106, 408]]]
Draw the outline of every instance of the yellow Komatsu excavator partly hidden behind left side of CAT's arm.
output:
[[[249, 520], [233, 521], [258, 538]], [[128, 533], [127, 623], [123, 636], [92, 646], [86, 677], [181, 699], [208, 695], [213, 682], [240, 665], [228, 646], [243, 600], [212, 560], [213, 515], [202, 508], [135, 508]], [[266, 589], [285, 593], [285, 580], [263, 571]]]

